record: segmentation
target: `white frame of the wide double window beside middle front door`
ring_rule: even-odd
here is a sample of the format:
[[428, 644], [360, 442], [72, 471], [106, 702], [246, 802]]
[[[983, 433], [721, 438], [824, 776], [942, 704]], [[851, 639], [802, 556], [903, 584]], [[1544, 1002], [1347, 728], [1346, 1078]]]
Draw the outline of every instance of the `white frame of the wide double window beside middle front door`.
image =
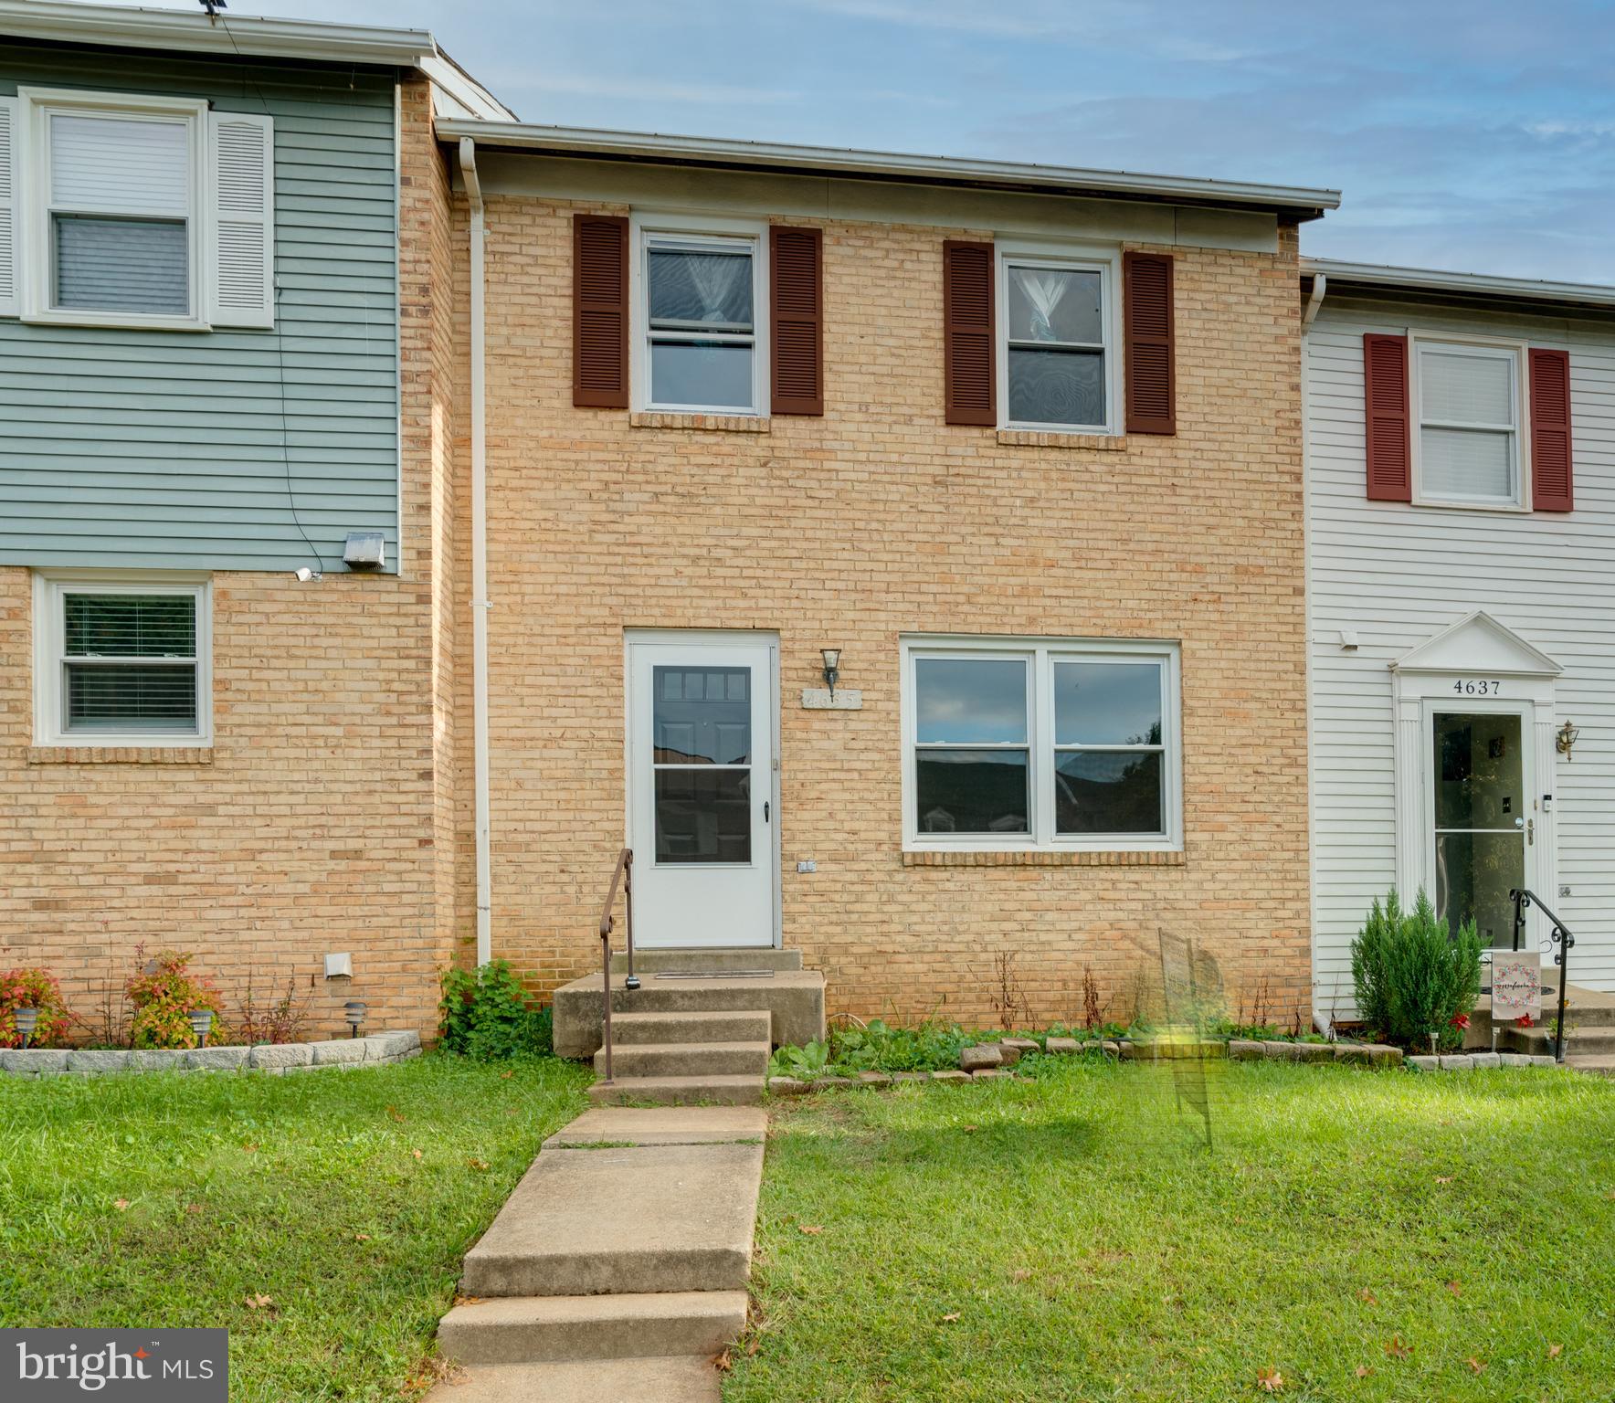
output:
[[[903, 725], [903, 851], [906, 852], [1181, 852], [1184, 846], [1182, 760], [1182, 649], [1156, 639], [985, 638], [974, 634], [911, 634], [900, 639]], [[1027, 744], [951, 749], [1027, 751], [1030, 833], [921, 833], [914, 812], [917, 778], [916, 668], [919, 659], [1019, 659], [1027, 664]], [[1158, 662], [1161, 665], [1161, 833], [1058, 833], [1055, 819], [1055, 664]], [[1139, 746], [1059, 746], [1085, 751], [1137, 751]]]

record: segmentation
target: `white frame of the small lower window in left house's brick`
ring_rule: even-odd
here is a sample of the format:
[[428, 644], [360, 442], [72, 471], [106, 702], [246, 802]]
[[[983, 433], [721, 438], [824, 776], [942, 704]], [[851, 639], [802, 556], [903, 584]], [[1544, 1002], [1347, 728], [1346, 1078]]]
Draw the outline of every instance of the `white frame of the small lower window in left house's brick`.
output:
[[[194, 731], [74, 731], [66, 725], [68, 594], [186, 594], [197, 607], [197, 728]], [[207, 575], [136, 570], [40, 570], [34, 573], [34, 744], [103, 749], [171, 749], [213, 744], [213, 583]]]

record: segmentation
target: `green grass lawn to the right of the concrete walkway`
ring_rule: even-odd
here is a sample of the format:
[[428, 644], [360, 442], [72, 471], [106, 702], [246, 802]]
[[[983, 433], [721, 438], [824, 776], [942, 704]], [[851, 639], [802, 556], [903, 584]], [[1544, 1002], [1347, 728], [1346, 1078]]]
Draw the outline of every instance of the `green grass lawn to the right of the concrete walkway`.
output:
[[724, 1398], [1615, 1397], [1615, 1083], [1250, 1062], [1210, 1101], [1211, 1148], [1085, 1059], [775, 1103]]

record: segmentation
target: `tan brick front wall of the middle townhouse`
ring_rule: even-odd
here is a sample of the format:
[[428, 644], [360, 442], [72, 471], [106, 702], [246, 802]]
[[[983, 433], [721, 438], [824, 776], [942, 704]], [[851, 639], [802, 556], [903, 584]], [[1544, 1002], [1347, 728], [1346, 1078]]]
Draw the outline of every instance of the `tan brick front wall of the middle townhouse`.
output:
[[[940, 247], [974, 229], [824, 223], [822, 420], [577, 410], [572, 213], [489, 199], [494, 953], [546, 986], [596, 959], [623, 836], [623, 630], [761, 628], [782, 647], [785, 943], [825, 970], [832, 1011], [987, 1019], [1013, 953], [1038, 1020], [1080, 1007], [1087, 965], [1121, 1012], [1166, 928], [1247, 1006], [1265, 978], [1271, 1014], [1305, 1016], [1294, 229], [1276, 257], [1171, 250], [1179, 433], [1118, 452], [942, 423]], [[909, 631], [1181, 639], [1185, 854], [906, 864]], [[799, 707], [825, 644], [862, 710]]]

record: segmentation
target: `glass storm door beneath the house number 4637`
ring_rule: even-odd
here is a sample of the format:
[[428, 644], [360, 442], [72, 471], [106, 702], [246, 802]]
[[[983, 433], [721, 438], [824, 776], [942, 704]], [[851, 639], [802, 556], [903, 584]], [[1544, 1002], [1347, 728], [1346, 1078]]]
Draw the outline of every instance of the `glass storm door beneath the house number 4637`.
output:
[[1528, 886], [1536, 846], [1531, 757], [1515, 710], [1431, 715], [1436, 914], [1474, 920], [1481, 944], [1513, 944], [1508, 893]]

